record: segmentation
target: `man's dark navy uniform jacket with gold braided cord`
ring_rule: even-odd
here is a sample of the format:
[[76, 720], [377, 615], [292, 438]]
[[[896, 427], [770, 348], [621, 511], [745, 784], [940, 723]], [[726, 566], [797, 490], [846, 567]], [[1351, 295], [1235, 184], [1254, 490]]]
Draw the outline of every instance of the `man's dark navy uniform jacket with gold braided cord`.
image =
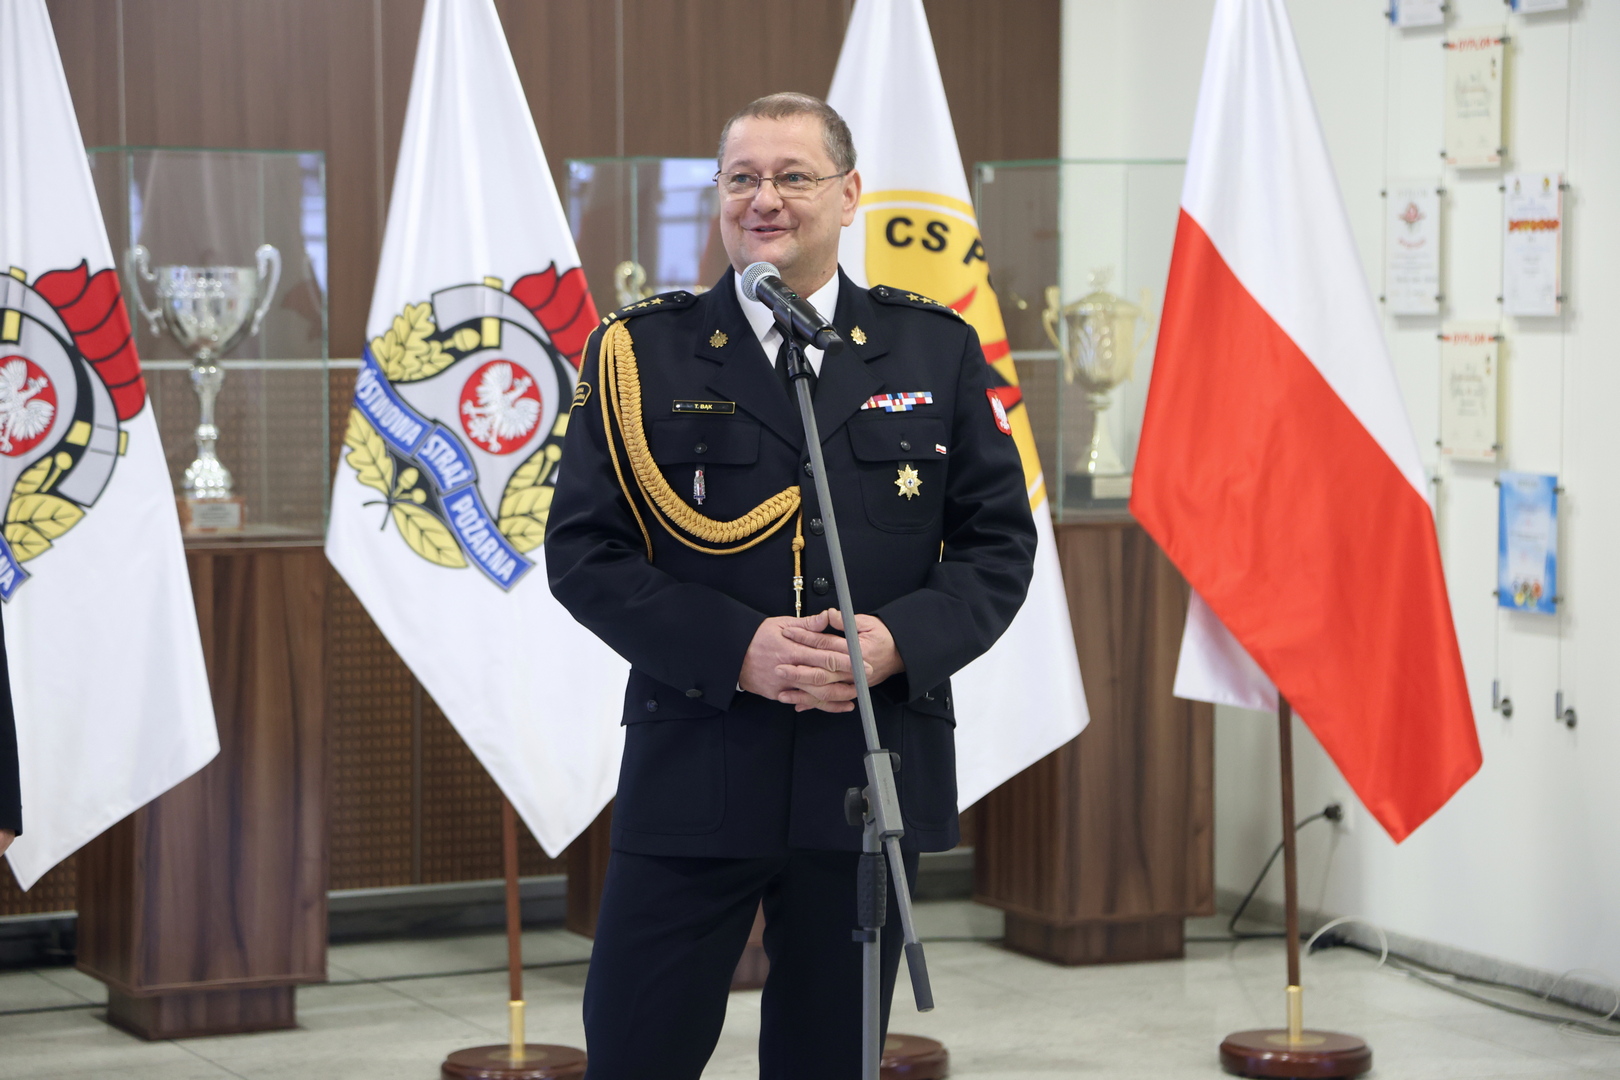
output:
[[[821, 512], [797, 408], [748, 327], [732, 272], [711, 290], [667, 293], [625, 319], [653, 458], [703, 515], [729, 521], [799, 484], [805, 614], [836, 607]], [[883, 745], [901, 755], [906, 847], [957, 842], [951, 675], [1006, 630], [1029, 588], [1035, 526], [1013, 439], [987, 390], [1001, 385], [954, 311], [904, 290], [839, 288], [849, 345], [823, 359], [815, 413], [855, 610], [880, 617], [906, 670], [873, 688]], [[859, 332], [857, 332], [859, 330]], [[585, 348], [546, 531], [556, 597], [630, 665], [612, 844], [648, 855], [770, 857], [789, 847], [859, 848], [842, 795], [863, 784], [854, 712], [794, 712], [737, 690], [760, 622], [794, 614], [789, 523], [740, 554], [695, 552], [640, 504], [648, 562], [608, 453], [603, 329]], [[909, 411], [873, 395], [930, 392]], [[716, 402], [677, 411], [677, 402]], [[732, 408], [734, 406], [734, 408]], [[693, 406], [685, 406], [687, 410]], [[625, 481], [625, 450], [614, 426]], [[915, 497], [896, 479], [920, 476]]]

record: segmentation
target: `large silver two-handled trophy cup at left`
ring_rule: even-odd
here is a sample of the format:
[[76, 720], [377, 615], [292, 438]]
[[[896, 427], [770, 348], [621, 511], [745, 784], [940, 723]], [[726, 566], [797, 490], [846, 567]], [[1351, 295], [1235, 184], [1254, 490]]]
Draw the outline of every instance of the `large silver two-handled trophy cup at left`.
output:
[[[167, 332], [191, 355], [191, 389], [199, 410], [198, 457], [186, 466], [181, 483], [186, 499], [230, 499], [230, 470], [215, 453], [219, 426], [214, 423], [214, 402], [225, 382], [225, 371], [217, 361], [241, 338], [259, 332], [282, 279], [280, 251], [261, 244], [254, 257], [258, 267], [160, 266], [154, 270], [151, 254], [141, 244], [125, 254], [130, 290], [152, 334]], [[156, 308], [146, 304], [143, 280], [156, 285]]]

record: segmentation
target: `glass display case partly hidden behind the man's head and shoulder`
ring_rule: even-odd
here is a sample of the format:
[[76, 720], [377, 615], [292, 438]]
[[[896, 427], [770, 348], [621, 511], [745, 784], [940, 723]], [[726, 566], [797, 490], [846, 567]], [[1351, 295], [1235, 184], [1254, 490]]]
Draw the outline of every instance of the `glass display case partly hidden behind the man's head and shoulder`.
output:
[[653, 293], [701, 293], [726, 270], [711, 157], [569, 159], [569, 228], [603, 314]]

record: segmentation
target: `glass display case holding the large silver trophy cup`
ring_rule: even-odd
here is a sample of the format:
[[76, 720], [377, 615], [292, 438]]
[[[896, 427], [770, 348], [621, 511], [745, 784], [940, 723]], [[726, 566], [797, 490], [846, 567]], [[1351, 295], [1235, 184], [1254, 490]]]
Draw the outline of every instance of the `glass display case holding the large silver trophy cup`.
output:
[[188, 541], [326, 531], [326, 159], [89, 151]]

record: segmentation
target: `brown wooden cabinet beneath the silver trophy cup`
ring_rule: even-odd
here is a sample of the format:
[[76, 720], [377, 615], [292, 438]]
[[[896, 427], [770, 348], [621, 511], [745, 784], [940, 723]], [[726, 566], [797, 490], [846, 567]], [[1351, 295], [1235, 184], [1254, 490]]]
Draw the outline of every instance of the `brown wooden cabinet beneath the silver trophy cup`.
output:
[[190, 547], [219, 756], [78, 857], [78, 967], [143, 1038], [288, 1028], [326, 981], [326, 555]]

